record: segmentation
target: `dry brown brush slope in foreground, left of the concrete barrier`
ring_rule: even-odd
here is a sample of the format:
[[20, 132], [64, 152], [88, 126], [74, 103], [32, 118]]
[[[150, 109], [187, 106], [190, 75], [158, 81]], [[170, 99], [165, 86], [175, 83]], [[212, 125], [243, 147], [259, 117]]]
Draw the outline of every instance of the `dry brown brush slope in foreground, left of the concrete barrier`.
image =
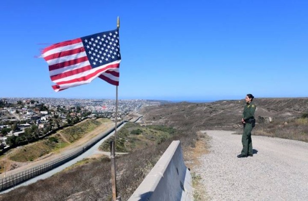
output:
[[[165, 141], [117, 157], [117, 190], [122, 200], [127, 200], [136, 190], [172, 140], [180, 140], [182, 148], [188, 149], [196, 147], [197, 135], [189, 130], [177, 130]], [[0, 200], [111, 200], [110, 178], [109, 158], [90, 159], [3, 194]]]

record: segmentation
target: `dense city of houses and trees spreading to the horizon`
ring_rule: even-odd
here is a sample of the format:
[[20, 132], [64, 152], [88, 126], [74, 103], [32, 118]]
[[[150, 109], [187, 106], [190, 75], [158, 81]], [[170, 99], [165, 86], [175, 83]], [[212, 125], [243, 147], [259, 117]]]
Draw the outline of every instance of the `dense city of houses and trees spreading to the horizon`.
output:
[[[132, 111], [160, 101], [118, 100], [118, 120]], [[0, 150], [29, 143], [55, 130], [86, 118], [115, 121], [116, 101], [112, 99], [2, 98], [0, 99]]]

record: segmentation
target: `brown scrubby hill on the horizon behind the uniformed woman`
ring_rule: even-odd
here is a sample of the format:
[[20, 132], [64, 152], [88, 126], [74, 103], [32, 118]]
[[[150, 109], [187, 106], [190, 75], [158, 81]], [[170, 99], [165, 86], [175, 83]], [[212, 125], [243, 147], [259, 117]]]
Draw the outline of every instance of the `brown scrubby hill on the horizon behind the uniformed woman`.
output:
[[[287, 121], [308, 112], [308, 98], [258, 98], [257, 123]], [[221, 100], [209, 103], [168, 103], [142, 108], [144, 124], [164, 124], [178, 128], [237, 130], [244, 100]]]

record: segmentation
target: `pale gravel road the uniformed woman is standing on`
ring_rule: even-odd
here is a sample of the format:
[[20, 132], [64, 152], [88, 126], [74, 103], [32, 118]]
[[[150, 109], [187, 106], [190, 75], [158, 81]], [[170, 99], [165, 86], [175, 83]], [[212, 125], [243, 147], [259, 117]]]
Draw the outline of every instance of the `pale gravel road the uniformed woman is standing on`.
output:
[[241, 135], [203, 132], [210, 153], [195, 172], [210, 200], [308, 200], [308, 143], [252, 136], [254, 156], [237, 158]]

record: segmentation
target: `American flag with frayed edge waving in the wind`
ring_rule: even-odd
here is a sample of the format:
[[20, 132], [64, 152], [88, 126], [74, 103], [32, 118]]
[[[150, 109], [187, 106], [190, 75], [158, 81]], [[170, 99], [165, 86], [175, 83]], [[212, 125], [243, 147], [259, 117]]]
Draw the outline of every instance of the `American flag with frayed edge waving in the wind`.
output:
[[42, 57], [49, 65], [55, 92], [88, 84], [97, 77], [119, 85], [119, 29], [53, 44], [43, 50]]

